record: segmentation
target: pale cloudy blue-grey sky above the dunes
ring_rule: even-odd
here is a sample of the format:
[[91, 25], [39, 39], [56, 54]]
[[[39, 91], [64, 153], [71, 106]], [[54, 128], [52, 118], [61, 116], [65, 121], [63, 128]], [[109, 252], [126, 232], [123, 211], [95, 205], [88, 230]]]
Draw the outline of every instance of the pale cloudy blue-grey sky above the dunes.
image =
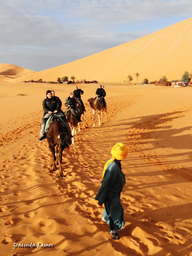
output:
[[1, 0], [0, 63], [44, 70], [145, 36], [191, 12], [191, 0]]

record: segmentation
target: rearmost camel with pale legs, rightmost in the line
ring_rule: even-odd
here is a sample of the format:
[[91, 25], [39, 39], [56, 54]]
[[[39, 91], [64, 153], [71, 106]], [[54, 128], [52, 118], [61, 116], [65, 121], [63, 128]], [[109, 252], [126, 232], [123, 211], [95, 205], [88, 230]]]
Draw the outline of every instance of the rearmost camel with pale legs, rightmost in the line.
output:
[[94, 127], [94, 119], [95, 119], [95, 111], [96, 110], [98, 111], [98, 125], [101, 125], [100, 124], [100, 115], [101, 115], [101, 123], [102, 123], [103, 111], [105, 112], [105, 119], [107, 121], [106, 106], [102, 105], [100, 98], [99, 97], [96, 97], [95, 99], [89, 98], [87, 101], [89, 102], [90, 107], [92, 108], [92, 112], [93, 112], [93, 126], [92, 127]]

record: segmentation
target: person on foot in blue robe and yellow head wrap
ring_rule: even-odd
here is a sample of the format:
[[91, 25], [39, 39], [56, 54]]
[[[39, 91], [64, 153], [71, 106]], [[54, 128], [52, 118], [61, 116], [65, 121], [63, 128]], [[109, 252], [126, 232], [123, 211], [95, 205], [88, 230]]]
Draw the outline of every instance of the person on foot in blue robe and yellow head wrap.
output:
[[110, 226], [110, 234], [113, 239], [119, 239], [118, 230], [124, 226], [123, 207], [120, 203], [120, 193], [125, 184], [125, 176], [121, 171], [120, 161], [127, 155], [128, 148], [122, 143], [116, 143], [112, 149], [112, 158], [104, 165], [101, 178], [101, 186], [97, 195], [98, 205], [104, 203], [102, 221]]

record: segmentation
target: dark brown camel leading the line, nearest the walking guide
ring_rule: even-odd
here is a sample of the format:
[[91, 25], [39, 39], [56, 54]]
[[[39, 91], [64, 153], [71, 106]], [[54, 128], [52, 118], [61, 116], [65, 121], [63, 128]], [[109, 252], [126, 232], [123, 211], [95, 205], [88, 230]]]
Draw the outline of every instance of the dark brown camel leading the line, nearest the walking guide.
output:
[[[46, 132], [46, 138], [52, 154], [51, 171], [56, 170], [56, 163], [59, 165], [59, 177], [63, 177], [62, 173], [62, 151], [71, 144], [65, 125], [60, 120], [59, 116], [53, 114], [49, 121], [49, 129]], [[56, 149], [56, 150], [55, 150]], [[56, 151], [56, 153], [55, 153]]]

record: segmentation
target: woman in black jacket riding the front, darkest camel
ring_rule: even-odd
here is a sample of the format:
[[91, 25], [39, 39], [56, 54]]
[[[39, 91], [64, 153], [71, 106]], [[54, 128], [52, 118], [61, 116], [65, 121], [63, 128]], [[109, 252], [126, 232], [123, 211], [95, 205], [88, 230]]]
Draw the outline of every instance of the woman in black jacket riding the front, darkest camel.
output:
[[46, 120], [52, 113], [56, 113], [63, 119], [63, 121], [66, 124], [66, 129], [67, 129], [67, 132], [69, 133], [69, 137], [72, 137], [70, 126], [64, 114], [62, 113], [62, 110], [60, 109], [61, 104], [56, 97], [52, 96], [51, 90], [46, 91], [46, 98], [42, 101], [42, 107], [43, 107], [44, 113], [43, 113], [43, 118], [42, 118], [41, 128], [40, 128], [40, 138], [38, 140], [42, 140], [46, 138], [44, 127], [45, 127]]

